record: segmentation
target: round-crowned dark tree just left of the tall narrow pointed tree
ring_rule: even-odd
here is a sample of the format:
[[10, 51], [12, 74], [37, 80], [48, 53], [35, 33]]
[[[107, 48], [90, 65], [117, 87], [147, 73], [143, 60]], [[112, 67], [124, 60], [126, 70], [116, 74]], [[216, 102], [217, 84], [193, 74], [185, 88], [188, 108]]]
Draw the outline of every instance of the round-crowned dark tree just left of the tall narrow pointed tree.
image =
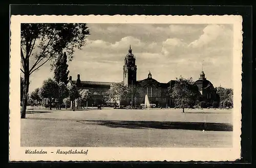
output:
[[41, 98], [48, 99], [51, 110], [53, 100], [58, 97], [58, 83], [51, 78], [44, 80], [38, 94]]

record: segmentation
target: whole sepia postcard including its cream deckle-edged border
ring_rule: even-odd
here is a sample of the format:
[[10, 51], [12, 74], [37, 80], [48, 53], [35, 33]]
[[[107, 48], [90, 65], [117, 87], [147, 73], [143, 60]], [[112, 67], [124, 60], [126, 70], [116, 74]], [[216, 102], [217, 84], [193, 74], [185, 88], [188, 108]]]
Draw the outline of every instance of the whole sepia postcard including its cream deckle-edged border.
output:
[[240, 156], [239, 16], [63, 17], [13, 17], [22, 18], [11, 26], [16, 158], [97, 160], [90, 154], [101, 148]]

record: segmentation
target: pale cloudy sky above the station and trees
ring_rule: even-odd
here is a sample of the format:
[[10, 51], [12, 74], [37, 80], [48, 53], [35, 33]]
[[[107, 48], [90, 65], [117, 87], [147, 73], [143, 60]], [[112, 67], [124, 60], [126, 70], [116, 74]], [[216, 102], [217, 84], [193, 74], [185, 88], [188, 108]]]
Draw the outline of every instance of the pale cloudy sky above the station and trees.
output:
[[[203, 70], [215, 87], [232, 88], [233, 27], [230, 24], [88, 24], [91, 35], [69, 62], [72, 79], [122, 81], [124, 57], [131, 44], [137, 80], [148, 70], [159, 82], [180, 75], [194, 80]], [[30, 92], [53, 77], [50, 65], [31, 77]]]

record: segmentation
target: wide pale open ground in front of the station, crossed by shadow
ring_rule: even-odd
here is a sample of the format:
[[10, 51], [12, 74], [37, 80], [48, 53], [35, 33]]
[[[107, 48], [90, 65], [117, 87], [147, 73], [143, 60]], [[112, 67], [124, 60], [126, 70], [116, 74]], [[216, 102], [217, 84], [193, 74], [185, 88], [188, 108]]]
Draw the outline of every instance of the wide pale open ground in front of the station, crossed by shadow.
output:
[[232, 109], [28, 107], [22, 147], [232, 147]]

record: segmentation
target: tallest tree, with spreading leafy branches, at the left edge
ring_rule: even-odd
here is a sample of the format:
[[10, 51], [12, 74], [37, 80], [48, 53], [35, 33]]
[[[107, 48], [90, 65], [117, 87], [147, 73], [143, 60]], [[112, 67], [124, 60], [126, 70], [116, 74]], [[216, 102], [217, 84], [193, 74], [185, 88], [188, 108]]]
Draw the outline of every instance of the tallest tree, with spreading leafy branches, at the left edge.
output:
[[[26, 117], [29, 77], [41, 66], [66, 51], [73, 59], [75, 48], [81, 49], [90, 35], [86, 23], [22, 23], [20, 27], [20, 55], [24, 74], [21, 118]], [[31, 64], [32, 63], [32, 64]]]

